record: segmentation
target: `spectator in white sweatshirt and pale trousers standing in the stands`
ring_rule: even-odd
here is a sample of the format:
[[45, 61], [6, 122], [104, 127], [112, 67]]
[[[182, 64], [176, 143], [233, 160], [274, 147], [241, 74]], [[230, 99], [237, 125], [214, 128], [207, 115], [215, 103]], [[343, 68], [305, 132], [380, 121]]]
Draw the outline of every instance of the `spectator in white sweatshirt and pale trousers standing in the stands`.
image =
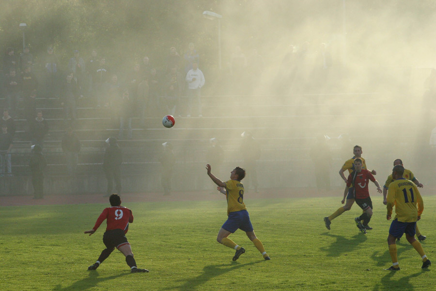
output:
[[202, 117], [201, 88], [204, 85], [204, 75], [198, 68], [197, 62], [192, 63], [192, 69], [187, 72], [186, 81], [188, 83], [189, 98], [187, 117], [191, 117], [193, 106], [197, 107], [196, 113], [199, 117]]

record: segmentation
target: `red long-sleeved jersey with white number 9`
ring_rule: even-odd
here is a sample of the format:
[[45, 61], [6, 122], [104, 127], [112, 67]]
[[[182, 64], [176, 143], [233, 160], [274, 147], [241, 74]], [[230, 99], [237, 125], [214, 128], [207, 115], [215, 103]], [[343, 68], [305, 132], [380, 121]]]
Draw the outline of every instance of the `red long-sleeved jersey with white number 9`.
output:
[[124, 233], [126, 233], [129, 230], [129, 223], [133, 222], [132, 210], [123, 206], [112, 206], [105, 208], [105, 210], [101, 212], [100, 216], [98, 216], [93, 230], [97, 230], [97, 228], [105, 219], [107, 224], [106, 230], [119, 228], [123, 229]]

